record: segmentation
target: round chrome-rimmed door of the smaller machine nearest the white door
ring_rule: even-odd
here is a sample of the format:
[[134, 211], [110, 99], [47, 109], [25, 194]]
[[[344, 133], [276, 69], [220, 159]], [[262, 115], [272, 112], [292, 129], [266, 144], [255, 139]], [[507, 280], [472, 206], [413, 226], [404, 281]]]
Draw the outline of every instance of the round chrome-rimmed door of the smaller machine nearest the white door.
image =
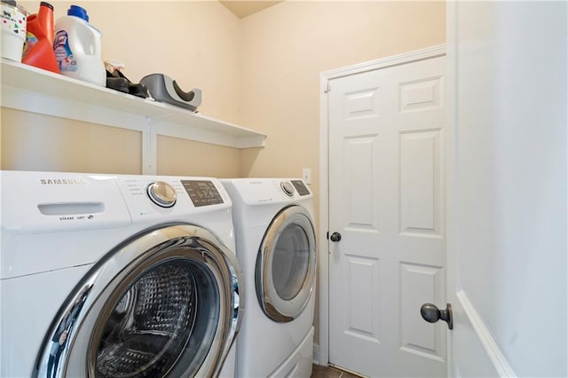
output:
[[310, 300], [316, 269], [312, 218], [300, 206], [274, 217], [256, 259], [256, 296], [273, 320], [296, 319]]

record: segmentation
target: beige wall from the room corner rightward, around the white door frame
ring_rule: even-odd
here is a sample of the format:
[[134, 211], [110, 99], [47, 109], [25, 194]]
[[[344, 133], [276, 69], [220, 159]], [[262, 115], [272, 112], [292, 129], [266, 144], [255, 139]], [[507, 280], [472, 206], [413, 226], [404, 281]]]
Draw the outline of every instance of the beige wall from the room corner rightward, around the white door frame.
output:
[[[241, 174], [300, 177], [312, 168], [318, 214], [319, 74], [445, 43], [446, 4], [287, 1], [242, 27], [242, 122], [268, 139], [263, 150], [241, 152]], [[316, 305], [315, 343], [318, 312]]]

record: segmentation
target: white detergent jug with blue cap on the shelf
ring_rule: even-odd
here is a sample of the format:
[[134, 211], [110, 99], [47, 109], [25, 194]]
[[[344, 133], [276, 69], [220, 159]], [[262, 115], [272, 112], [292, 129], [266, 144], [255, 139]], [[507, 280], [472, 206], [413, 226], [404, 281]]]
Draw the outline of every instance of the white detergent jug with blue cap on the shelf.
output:
[[67, 16], [54, 27], [53, 50], [62, 75], [106, 86], [106, 70], [100, 54], [100, 32], [89, 23], [87, 12], [71, 5]]

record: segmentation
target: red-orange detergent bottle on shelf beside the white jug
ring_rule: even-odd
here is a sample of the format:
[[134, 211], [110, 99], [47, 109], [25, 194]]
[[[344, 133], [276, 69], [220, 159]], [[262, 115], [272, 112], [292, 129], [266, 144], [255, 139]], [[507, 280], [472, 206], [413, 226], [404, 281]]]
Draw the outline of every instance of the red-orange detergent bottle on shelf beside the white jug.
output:
[[53, 51], [53, 5], [41, 2], [39, 12], [28, 16], [22, 63], [59, 74]]

